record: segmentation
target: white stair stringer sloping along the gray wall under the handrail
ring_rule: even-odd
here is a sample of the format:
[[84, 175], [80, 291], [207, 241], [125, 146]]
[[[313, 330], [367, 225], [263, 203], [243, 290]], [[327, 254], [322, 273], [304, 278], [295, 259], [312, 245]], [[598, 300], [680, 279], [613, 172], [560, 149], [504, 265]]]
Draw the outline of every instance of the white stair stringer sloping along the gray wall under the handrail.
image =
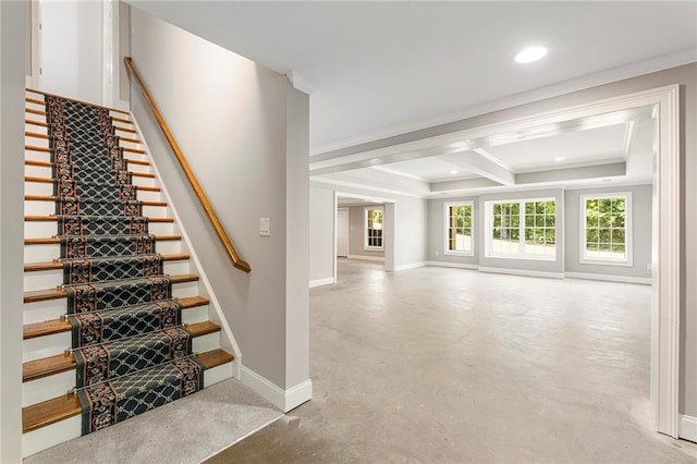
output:
[[[152, 169], [156, 175], [156, 179], [159, 182], [159, 185], [161, 188], [160, 193], [163, 195], [164, 200], [167, 202], [168, 208], [170, 209], [170, 211], [172, 212], [172, 216], [174, 217], [174, 227], [175, 229], [179, 229], [179, 234], [182, 236], [182, 242], [186, 247], [186, 252], [189, 255], [189, 266], [193, 265], [195, 267], [195, 271], [194, 269], [191, 269], [189, 272], [198, 274], [199, 286], [203, 284], [205, 290], [205, 296], [208, 297], [208, 300], [210, 301], [210, 303], [208, 304], [208, 317], [210, 320], [218, 323], [222, 329], [220, 332], [220, 346], [222, 349], [231, 350], [232, 354], [234, 355], [234, 361], [232, 362], [232, 377], [239, 380], [241, 375], [241, 366], [242, 366], [242, 352], [240, 350], [240, 345], [235, 341], [234, 334], [232, 333], [232, 329], [230, 328], [230, 323], [228, 323], [228, 319], [225, 318], [225, 315], [222, 312], [220, 302], [216, 297], [216, 293], [213, 292], [212, 285], [210, 284], [210, 280], [208, 279], [208, 276], [206, 274], [206, 271], [201, 266], [200, 259], [198, 258], [198, 254], [196, 253], [196, 249], [192, 245], [192, 241], [188, 236], [188, 233], [186, 232], [186, 229], [184, 228], [184, 224], [182, 222], [182, 219], [179, 212], [176, 211], [174, 202], [172, 200], [172, 197], [170, 196], [167, 190], [167, 181], [161, 175], [157, 167], [157, 162], [155, 158], [151, 156], [151, 151], [148, 147], [147, 141], [145, 139], [145, 135], [143, 134], [143, 131], [140, 131], [138, 121], [136, 120], [135, 114], [133, 112], [131, 112], [131, 121], [138, 134], [138, 137], [140, 139], [140, 145], [143, 146], [143, 148], [147, 154], [150, 154], [150, 157], [149, 157], [150, 168]], [[184, 251], [182, 249], [182, 252]], [[220, 380], [224, 380], [224, 378], [227, 377], [223, 377]]]

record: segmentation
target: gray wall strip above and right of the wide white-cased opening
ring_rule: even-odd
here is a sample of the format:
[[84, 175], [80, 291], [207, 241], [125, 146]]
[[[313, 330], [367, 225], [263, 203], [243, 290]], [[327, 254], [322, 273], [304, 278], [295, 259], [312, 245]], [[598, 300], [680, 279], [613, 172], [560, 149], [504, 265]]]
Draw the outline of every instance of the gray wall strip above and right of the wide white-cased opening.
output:
[[[379, 149], [409, 141], [448, 134], [465, 129], [493, 124], [504, 120], [514, 120], [547, 111], [583, 105], [603, 98], [617, 97], [635, 91], [647, 90], [667, 85], [681, 86], [681, 154], [683, 161], [683, 277], [681, 289], [681, 412], [697, 416], [697, 63], [617, 81], [578, 91], [546, 98], [526, 105], [518, 105], [500, 111], [455, 121], [449, 124], [414, 131], [341, 150], [335, 155]], [[689, 239], [689, 240], [688, 240]]]

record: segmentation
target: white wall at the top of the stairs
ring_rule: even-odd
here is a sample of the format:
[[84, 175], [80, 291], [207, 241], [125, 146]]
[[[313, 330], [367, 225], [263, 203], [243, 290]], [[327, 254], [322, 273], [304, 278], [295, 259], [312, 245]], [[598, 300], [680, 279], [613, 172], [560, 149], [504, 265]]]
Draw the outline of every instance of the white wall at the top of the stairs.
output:
[[40, 1], [40, 89], [102, 102], [102, 4]]

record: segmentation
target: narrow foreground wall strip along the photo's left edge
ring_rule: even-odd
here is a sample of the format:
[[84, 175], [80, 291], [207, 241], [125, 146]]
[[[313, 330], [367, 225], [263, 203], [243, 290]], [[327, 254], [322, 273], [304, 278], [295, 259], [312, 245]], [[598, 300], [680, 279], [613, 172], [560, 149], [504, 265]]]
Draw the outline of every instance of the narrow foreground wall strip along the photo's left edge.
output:
[[0, 2], [0, 462], [22, 461], [22, 261], [26, 8]]

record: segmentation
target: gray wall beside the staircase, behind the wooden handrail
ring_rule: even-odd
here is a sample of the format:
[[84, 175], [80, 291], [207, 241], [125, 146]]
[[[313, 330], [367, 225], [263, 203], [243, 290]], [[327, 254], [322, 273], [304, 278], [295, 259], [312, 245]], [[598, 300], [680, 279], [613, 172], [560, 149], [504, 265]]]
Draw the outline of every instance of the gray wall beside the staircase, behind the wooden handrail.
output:
[[[133, 60], [213, 209], [252, 266], [234, 269], [143, 98], [132, 109], [222, 305], [245, 367], [309, 378], [308, 97], [285, 76], [131, 9]], [[271, 236], [258, 233], [270, 218]]]

